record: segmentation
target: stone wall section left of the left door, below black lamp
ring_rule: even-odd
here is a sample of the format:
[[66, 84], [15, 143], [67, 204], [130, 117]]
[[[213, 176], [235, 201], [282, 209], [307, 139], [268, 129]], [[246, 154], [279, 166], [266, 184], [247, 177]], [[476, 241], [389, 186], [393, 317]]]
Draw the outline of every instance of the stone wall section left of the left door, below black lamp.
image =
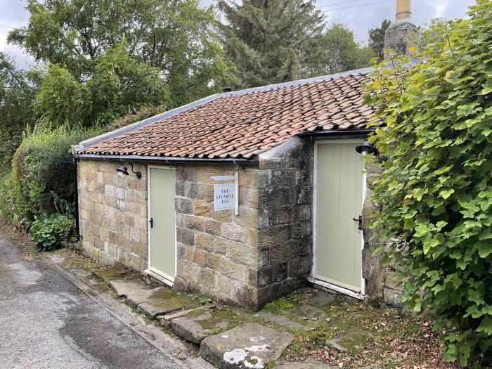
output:
[[147, 268], [147, 173], [120, 176], [121, 162], [79, 160], [79, 224], [84, 253], [105, 264]]

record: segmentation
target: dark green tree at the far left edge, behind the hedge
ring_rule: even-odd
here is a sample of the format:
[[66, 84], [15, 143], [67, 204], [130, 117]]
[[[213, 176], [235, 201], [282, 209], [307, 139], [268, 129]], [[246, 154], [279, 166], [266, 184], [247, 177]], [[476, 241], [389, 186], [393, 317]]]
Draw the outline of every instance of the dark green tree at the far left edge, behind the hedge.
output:
[[0, 52], [0, 173], [8, 167], [32, 116], [39, 75], [17, 70], [11, 58]]

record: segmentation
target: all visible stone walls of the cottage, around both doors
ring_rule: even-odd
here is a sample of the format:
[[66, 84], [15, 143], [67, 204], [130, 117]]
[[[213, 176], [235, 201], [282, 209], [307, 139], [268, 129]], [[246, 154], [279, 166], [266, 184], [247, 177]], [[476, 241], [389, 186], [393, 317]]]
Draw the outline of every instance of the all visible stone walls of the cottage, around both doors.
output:
[[[144, 271], [148, 266], [148, 204], [142, 178], [119, 176], [121, 162], [79, 161], [79, 219], [82, 248], [107, 264]], [[214, 212], [211, 176], [239, 173], [239, 215]], [[368, 195], [377, 176], [368, 168]], [[216, 301], [252, 309], [303, 287], [313, 263], [313, 141], [292, 139], [261, 155], [259, 167], [181, 164], [176, 167], [177, 264], [174, 288], [201, 292]], [[363, 278], [375, 301], [401, 306], [401, 287], [382, 268], [370, 240], [366, 199]]]

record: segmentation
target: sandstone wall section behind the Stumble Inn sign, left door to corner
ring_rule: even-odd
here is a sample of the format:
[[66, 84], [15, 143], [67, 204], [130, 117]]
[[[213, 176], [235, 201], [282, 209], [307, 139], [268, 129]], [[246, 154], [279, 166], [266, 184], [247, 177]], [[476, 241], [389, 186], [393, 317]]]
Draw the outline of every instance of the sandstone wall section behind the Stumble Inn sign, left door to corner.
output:
[[[257, 169], [238, 169], [239, 215], [214, 212], [211, 176], [233, 175], [231, 167], [176, 168], [176, 290], [257, 309], [257, 274], [266, 254], [258, 248]], [[219, 182], [221, 183], [221, 182]]]

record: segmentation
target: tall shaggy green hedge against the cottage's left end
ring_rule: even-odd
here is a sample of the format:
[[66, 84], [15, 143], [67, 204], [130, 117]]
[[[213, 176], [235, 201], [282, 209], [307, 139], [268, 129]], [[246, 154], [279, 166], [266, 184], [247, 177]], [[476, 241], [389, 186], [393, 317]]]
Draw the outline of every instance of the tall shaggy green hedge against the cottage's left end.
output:
[[15, 226], [28, 227], [34, 216], [72, 214], [75, 198], [71, 146], [96, 136], [99, 128], [51, 129], [40, 122], [27, 129], [15, 152], [12, 172], [0, 189], [0, 209]]

